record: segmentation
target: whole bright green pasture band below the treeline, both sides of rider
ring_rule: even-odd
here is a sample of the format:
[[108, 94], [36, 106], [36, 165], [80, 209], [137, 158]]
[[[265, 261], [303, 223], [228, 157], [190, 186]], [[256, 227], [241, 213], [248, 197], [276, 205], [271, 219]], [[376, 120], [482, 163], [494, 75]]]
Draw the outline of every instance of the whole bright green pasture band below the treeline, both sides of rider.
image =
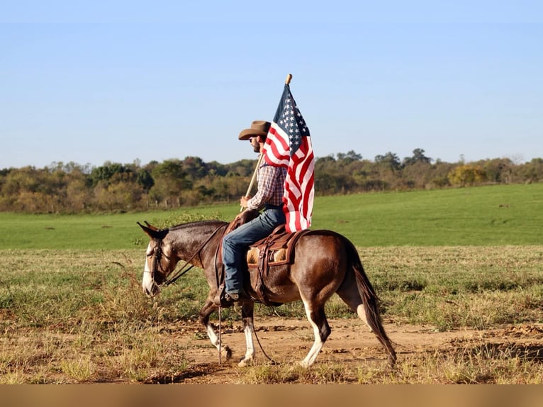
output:
[[[162, 226], [202, 217], [229, 221], [237, 213], [237, 204], [101, 215], [0, 213], [0, 247], [143, 247], [147, 238], [137, 221]], [[312, 228], [336, 230], [358, 247], [539, 245], [543, 242], [543, 184], [318, 196]]]

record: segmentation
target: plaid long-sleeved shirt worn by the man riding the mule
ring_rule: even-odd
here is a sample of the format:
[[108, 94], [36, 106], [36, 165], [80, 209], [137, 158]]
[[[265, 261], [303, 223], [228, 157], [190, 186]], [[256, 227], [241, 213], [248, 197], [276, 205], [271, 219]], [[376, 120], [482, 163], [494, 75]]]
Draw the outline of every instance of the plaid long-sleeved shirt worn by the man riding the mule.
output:
[[260, 165], [258, 169], [258, 191], [247, 201], [247, 209], [260, 209], [264, 204], [282, 205], [285, 191], [286, 168]]

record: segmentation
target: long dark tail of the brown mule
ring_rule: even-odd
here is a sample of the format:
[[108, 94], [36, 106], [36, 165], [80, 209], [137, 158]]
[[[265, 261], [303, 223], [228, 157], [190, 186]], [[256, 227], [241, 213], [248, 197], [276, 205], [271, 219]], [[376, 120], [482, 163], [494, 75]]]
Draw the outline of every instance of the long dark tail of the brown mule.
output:
[[358, 255], [356, 247], [346, 240], [347, 252], [349, 254], [349, 262], [354, 271], [354, 275], [357, 279], [357, 287], [360, 296], [362, 297], [362, 303], [364, 305], [364, 313], [366, 314], [366, 322], [369, 325], [369, 328], [376, 335], [377, 339], [385, 347], [386, 352], [388, 353], [388, 364], [391, 367], [394, 367], [396, 364], [396, 351], [392, 345], [392, 341], [386, 335], [383, 322], [381, 320], [381, 313], [379, 312], [379, 298], [374, 290], [374, 287], [369, 282], [366, 273], [364, 272], [364, 267], [362, 266], [362, 261]]

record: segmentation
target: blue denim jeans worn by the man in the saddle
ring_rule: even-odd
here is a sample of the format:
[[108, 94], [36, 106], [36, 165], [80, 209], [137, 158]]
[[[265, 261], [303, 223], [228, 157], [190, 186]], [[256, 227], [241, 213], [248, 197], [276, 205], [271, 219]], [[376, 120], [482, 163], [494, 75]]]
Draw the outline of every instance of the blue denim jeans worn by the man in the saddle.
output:
[[265, 238], [286, 222], [282, 208], [267, 208], [249, 223], [223, 238], [223, 264], [225, 265], [225, 291], [230, 294], [243, 290], [243, 272], [247, 269], [247, 248]]

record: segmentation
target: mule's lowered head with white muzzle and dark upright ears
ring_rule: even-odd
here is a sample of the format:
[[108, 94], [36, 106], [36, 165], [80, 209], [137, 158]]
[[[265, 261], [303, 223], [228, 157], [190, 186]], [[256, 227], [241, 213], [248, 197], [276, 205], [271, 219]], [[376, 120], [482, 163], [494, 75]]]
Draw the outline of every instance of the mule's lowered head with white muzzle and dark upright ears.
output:
[[168, 229], [158, 229], [145, 222], [140, 228], [149, 236], [150, 242], [145, 253], [145, 269], [143, 269], [142, 288], [147, 296], [155, 296], [160, 292], [179, 259], [172, 253], [172, 245], [167, 239]]

